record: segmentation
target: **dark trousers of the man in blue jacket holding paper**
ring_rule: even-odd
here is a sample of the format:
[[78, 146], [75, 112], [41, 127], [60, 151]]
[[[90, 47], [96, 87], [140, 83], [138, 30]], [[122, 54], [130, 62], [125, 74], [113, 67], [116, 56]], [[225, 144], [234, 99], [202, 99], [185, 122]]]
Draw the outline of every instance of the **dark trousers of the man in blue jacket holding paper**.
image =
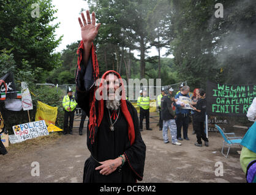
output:
[[189, 128], [189, 115], [177, 114], [176, 126], [177, 126], [177, 139], [181, 138], [181, 128], [183, 127], [183, 138], [187, 138], [187, 129]]

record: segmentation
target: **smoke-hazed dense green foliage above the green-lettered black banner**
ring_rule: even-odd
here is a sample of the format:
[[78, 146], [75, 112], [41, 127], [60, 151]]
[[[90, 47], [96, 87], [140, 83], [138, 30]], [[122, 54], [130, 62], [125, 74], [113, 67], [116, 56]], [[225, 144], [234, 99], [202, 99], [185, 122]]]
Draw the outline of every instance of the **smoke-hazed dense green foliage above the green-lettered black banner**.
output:
[[203, 88], [207, 80], [255, 83], [255, 2], [221, 1], [224, 18], [215, 18], [216, 3], [171, 1], [170, 52], [179, 77]]

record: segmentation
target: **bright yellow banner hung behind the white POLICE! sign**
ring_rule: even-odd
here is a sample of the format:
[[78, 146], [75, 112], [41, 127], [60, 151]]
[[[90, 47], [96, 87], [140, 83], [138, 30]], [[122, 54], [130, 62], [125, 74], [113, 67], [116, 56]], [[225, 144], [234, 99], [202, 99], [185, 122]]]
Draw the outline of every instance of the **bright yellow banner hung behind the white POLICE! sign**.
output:
[[47, 126], [55, 124], [58, 107], [51, 107], [43, 102], [37, 101], [36, 121], [45, 120]]

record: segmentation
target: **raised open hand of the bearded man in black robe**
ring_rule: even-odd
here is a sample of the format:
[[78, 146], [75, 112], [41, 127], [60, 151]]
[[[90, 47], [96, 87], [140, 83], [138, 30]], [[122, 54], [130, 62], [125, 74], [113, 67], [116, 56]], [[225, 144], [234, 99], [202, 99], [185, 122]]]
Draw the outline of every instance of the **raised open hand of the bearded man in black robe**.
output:
[[96, 19], [95, 19], [94, 12], [92, 12], [92, 18], [91, 18], [89, 10], [86, 10], [86, 16], [87, 16], [87, 22], [85, 19], [85, 15], [83, 13], [81, 13], [81, 18], [83, 19], [83, 22], [81, 21], [81, 18], [78, 18], [78, 21], [81, 27], [81, 38], [84, 44], [86, 43], [90, 44], [98, 34], [100, 23], [97, 24], [97, 26], [95, 26]]

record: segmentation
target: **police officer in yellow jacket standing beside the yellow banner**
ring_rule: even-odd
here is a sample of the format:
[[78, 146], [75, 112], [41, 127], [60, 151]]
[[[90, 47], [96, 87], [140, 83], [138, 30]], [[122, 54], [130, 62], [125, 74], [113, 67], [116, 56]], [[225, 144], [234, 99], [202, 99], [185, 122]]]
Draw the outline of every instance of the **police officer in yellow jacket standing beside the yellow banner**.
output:
[[[64, 96], [62, 105], [64, 107], [64, 131], [63, 134], [69, 133], [72, 135], [73, 129], [73, 118], [75, 116], [75, 107], [77, 107], [77, 102], [75, 102], [75, 97], [72, 95], [73, 91], [69, 87], [67, 89], [67, 95]], [[68, 126], [69, 125], [69, 126]]]

